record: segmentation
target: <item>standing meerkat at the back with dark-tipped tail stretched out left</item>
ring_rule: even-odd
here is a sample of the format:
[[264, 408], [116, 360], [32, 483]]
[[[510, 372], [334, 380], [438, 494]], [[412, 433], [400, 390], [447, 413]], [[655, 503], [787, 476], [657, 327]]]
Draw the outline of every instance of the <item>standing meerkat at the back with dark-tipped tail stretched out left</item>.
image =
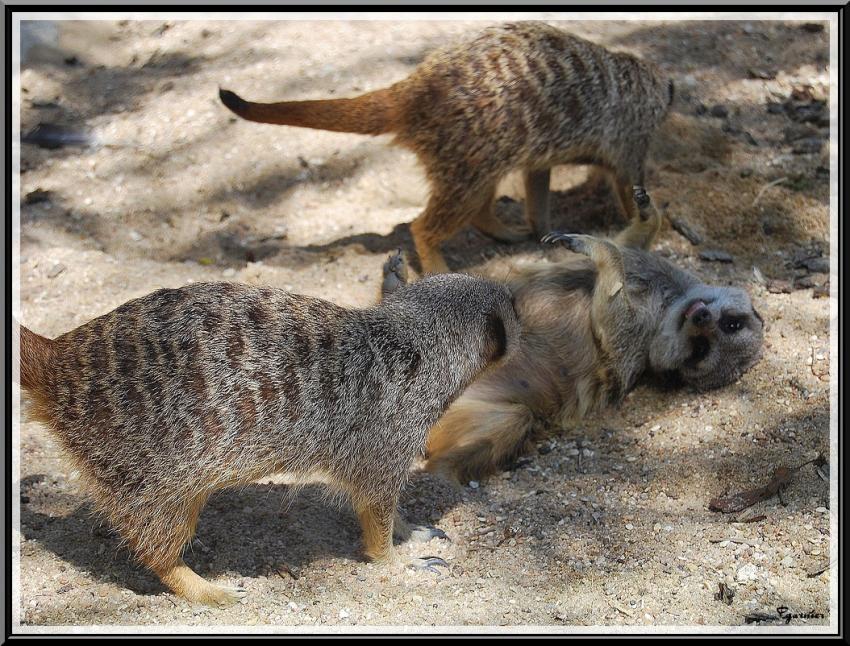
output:
[[[636, 215], [649, 142], [673, 101], [673, 82], [646, 61], [542, 22], [484, 30], [429, 55], [410, 76], [348, 99], [253, 103], [219, 90], [250, 121], [369, 135], [390, 133], [416, 153], [431, 185], [410, 225], [425, 273], [448, 271], [440, 244], [472, 224], [504, 242], [551, 231], [550, 169], [587, 164], [609, 180], [620, 211]], [[526, 225], [494, 214], [497, 184], [521, 169]]]

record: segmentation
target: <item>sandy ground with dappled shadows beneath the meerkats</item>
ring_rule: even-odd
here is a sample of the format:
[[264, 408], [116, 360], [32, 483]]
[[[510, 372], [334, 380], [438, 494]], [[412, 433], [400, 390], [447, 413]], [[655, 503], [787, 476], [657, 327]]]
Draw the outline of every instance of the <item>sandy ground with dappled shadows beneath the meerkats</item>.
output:
[[[411, 248], [407, 223], [425, 200], [413, 155], [386, 137], [238, 121], [217, 88], [258, 100], [353, 95], [403, 78], [427, 51], [480, 26], [65, 24], [60, 50], [29, 51], [22, 131], [66, 125], [108, 145], [22, 147], [23, 322], [57, 335], [156, 288], [218, 279], [370, 303], [387, 253]], [[401, 550], [445, 558], [440, 577], [364, 562], [353, 513], [319, 488], [293, 495], [268, 481], [217, 495], [187, 561], [247, 588], [224, 610], [192, 606], [136, 566], [91, 517], [57, 444], [25, 422], [23, 625], [737, 626], [778, 606], [823, 615], [795, 626], [829, 622], [835, 569], [810, 576], [828, 563], [830, 541], [829, 486], [813, 466], [794, 474], [784, 504], [708, 509], [715, 496], [765, 484], [777, 466], [829, 451], [829, 298], [817, 297], [828, 280], [828, 128], [799, 120], [828, 93], [828, 32], [781, 22], [565, 26], [674, 75], [676, 113], [648, 187], [703, 242], [665, 226], [656, 248], [707, 282], [750, 291], [768, 321], [764, 360], [708, 394], [641, 387], [620, 410], [462, 491], [414, 475], [403, 512], [451, 542]], [[583, 173], [555, 174], [556, 224], [616, 231], [610, 196], [582, 186]], [[504, 183], [516, 200], [502, 201], [508, 218], [518, 186]], [[445, 249], [460, 270], [539, 253], [532, 241], [496, 244], [473, 230]], [[700, 259], [712, 249], [733, 262]], [[733, 522], [747, 518], [756, 520]], [[715, 599], [721, 582], [729, 604]]]

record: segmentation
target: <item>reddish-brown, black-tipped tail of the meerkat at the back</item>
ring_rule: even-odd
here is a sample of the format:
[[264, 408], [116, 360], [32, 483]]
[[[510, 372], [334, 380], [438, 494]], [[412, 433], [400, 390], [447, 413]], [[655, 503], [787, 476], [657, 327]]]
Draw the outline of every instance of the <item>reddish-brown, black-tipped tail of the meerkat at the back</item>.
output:
[[334, 132], [380, 135], [396, 129], [396, 105], [389, 88], [351, 99], [254, 103], [219, 89], [221, 102], [234, 114], [260, 123]]

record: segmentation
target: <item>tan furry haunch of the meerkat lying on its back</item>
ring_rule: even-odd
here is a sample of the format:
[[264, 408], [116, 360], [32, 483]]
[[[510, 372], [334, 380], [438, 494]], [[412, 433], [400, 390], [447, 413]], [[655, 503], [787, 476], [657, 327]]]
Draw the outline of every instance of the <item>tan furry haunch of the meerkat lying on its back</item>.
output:
[[523, 404], [461, 397], [428, 433], [425, 469], [461, 483], [491, 475], [531, 448], [535, 430]]

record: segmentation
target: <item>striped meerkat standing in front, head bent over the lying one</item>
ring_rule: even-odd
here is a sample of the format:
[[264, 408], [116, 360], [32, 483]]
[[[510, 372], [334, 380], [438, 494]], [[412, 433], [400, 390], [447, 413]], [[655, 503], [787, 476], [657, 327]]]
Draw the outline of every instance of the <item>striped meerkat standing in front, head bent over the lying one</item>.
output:
[[319, 480], [350, 496], [366, 555], [400, 563], [397, 500], [428, 429], [518, 336], [508, 289], [460, 274], [362, 310], [204, 283], [53, 340], [21, 327], [20, 383], [141, 562], [177, 594], [224, 604], [244, 591], [181, 557], [210, 494], [276, 473]]

